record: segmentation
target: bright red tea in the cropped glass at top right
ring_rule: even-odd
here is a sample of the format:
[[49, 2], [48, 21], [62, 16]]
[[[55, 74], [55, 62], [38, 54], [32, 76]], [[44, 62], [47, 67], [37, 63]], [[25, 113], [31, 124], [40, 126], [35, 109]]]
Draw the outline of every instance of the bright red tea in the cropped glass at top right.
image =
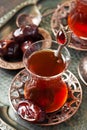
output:
[[87, 0], [76, 0], [71, 6], [68, 24], [78, 37], [87, 39]]

